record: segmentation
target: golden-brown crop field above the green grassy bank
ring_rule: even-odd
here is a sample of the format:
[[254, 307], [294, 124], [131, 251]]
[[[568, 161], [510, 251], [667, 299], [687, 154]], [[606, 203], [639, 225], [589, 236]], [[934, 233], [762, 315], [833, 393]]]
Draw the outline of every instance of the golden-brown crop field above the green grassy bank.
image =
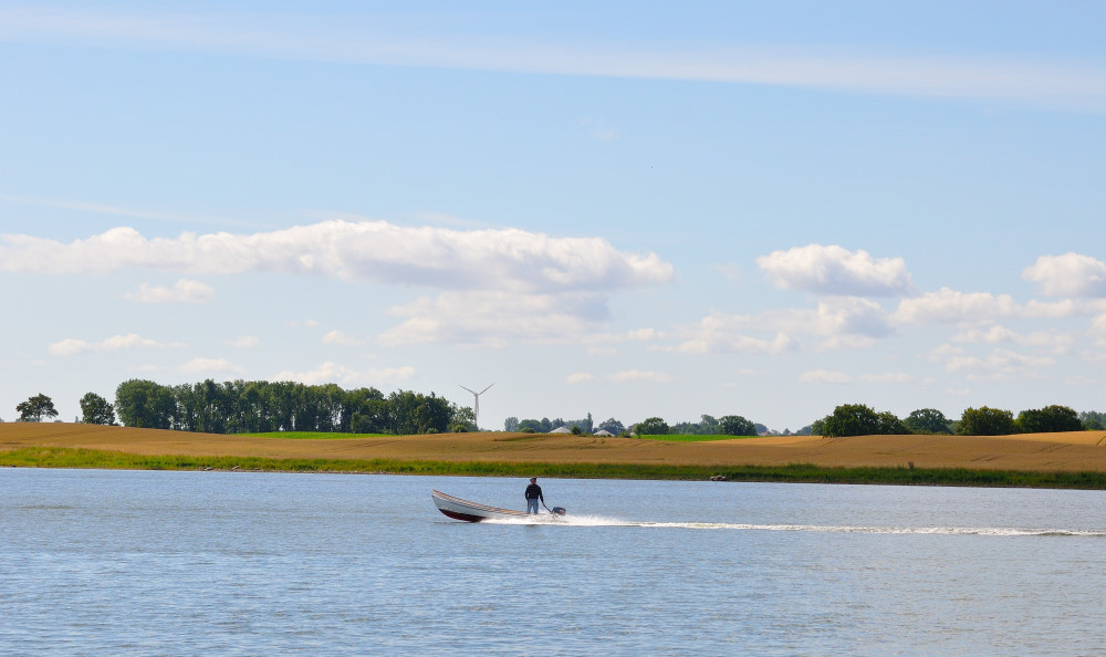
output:
[[706, 442], [541, 434], [283, 439], [67, 423], [0, 424], [0, 451], [84, 448], [143, 456], [509, 463], [963, 468], [1106, 472], [1106, 431], [1015, 436], [779, 436]]

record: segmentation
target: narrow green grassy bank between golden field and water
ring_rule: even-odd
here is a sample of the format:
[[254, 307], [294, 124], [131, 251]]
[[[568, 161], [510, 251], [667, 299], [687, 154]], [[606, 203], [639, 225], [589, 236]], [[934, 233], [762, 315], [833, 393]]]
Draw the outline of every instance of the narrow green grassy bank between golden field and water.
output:
[[95, 449], [28, 447], [0, 451], [0, 466], [124, 470], [246, 470], [257, 472], [356, 472], [469, 477], [707, 480], [791, 483], [883, 483], [1106, 490], [1104, 472], [1033, 472], [962, 468], [827, 468], [787, 466], [634, 466], [614, 463], [448, 462], [388, 459], [269, 459], [255, 457], [142, 456]]

